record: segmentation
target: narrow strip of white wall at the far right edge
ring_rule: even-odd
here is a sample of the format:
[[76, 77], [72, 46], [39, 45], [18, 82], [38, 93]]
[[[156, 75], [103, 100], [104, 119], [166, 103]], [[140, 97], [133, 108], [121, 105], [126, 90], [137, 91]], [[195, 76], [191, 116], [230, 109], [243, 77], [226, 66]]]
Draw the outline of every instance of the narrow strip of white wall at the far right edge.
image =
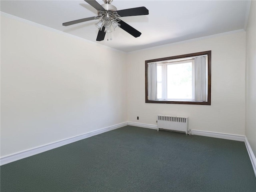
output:
[[246, 28], [245, 135], [256, 156], [256, 1], [252, 1]]

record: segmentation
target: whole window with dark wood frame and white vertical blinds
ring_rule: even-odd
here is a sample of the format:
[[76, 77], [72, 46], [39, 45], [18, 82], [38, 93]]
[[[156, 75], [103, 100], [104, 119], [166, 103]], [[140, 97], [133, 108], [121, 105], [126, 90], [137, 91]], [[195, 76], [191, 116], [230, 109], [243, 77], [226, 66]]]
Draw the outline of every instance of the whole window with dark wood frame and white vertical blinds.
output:
[[145, 61], [146, 103], [211, 104], [211, 51]]

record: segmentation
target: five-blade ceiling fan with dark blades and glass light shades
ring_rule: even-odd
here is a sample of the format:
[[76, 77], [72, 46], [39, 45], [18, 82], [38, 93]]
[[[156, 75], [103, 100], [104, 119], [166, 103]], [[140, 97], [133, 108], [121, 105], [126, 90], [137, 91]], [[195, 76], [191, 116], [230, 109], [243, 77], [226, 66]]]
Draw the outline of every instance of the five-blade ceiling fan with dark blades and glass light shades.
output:
[[148, 9], [146, 7], [136, 7], [130, 9], [117, 10], [117, 8], [111, 5], [113, 0], [103, 0], [104, 4], [100, 5], [96, 0], [84, 0], [96, 10], [98, 10], [98, 16], [78, 19], [66, 23], [62, 23], [63, 26], [70, 26], [73, 24], [78, 24], [81, 22], [86, 22], [90, 20], [100, 19], [95, 25], [98, 27], [99, 32], [96, 41], [104, 40], [106, 32], [112, 32], [112, 28], [116, 30], [121, 28], [131, 34], [134, 37], [139, 37], [141, 32], [134, 29], [132, 26], [128, 25], [126, 22], [120, 20], [120, 17], [127, 16], [138, 16], [138, 15], [148, 15]]

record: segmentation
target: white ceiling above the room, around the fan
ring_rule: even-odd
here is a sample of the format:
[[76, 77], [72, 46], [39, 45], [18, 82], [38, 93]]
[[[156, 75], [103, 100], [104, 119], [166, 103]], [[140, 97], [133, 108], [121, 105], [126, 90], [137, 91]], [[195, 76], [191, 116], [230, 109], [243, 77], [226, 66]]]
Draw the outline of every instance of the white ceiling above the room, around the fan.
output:
[[[97, 0], [104, 4], [102, 0]], [[244, 29], [248, 0], [113, 0], [118, 10], [145, 6], [149, 15], [121, 18], [142, 33], [134, 38], [121, 28], [96, 41], [97, 20], [62, 26], [62, 23], [97, 15], [83, 0], [1, 0], [1, 12], [23, 18], [117, 50], [131, 52], [144, 48]]]

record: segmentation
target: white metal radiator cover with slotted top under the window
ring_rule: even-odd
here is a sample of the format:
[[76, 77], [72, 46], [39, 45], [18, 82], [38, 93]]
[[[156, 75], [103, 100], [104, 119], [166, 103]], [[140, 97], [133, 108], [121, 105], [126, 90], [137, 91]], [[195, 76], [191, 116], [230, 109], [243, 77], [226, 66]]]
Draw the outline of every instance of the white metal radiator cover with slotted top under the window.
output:
[[188, 131], [188, 117], [158, 115], [157, 130], [159, 131], [160, 129], [190, 134], [190, 131]]

